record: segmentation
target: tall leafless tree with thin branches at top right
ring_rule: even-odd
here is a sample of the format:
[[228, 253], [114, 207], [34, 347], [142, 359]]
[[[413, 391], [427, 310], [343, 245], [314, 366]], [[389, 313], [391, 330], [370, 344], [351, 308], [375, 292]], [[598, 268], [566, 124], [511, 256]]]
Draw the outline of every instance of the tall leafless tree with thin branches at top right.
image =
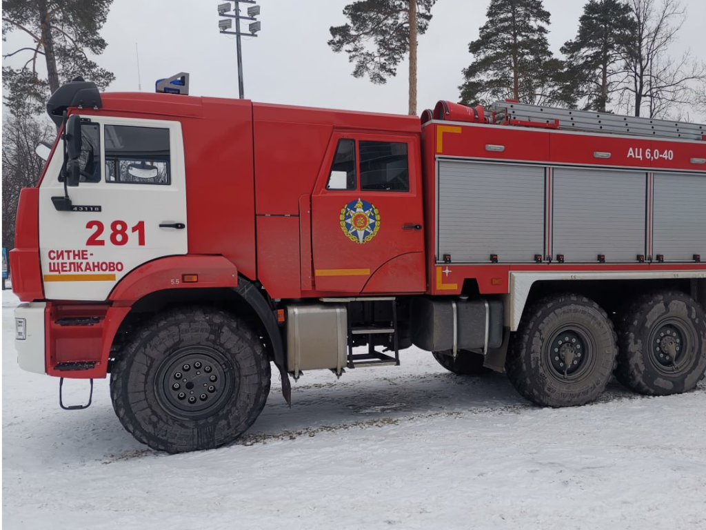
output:
[[706, 65], [669, 53], [686, 18], [679, 0], [628, 0], [635, 35], [624, 54], [626, 76], [618, 89], [618, 107], [635, 116], [666, 117], [680, 105], [693, 104], [695, 86], [706, 80]]

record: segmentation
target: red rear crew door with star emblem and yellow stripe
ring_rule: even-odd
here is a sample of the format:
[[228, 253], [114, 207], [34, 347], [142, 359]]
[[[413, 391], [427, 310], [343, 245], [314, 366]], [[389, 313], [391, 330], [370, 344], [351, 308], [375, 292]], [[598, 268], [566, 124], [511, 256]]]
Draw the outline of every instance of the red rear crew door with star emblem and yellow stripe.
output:
[[311, 198], [316, 290], [426, 290], [418, 139], [335, 134]]

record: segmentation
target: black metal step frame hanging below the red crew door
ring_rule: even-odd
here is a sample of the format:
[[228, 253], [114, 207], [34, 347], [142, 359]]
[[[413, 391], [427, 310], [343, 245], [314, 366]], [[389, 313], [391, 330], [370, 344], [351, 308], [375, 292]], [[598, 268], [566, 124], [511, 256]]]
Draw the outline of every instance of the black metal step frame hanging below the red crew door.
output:
[[[362, 299], [364, 300], [364, 299]], [[397, 300], [394, 297], [375, 298], [374, 302], [390, 302], [392, 304], [392, 321], [389, 325], [376, 324], [366, 326], [353, 326], [351, 322], [350, 311], [348, 311], [348, 363], [349, 368], [362, 368], [369, 366], [399, 366], [400, 365], [400, 348], [397, 340]], [[364, 322], [373, 321], [373, 307], [371, 305], [364, 306]], [[373, 345], [373, 335], [388, 334], [393, 336], [395, 356], [387, 355], [381, 351], [377, 351]], [[368, 352], [353, 353], [353, 336], [367, 335], [368, 336]]]

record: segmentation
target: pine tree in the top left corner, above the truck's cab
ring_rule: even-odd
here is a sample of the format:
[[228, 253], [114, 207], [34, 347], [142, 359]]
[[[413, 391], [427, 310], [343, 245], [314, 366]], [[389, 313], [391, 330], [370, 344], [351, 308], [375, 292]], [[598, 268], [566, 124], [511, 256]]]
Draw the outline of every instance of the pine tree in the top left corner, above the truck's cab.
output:
[[99, 32], [112, 1], [2, 0], [3, 42], [13, 32], [32, 39], [31, 45], [3, 54], [3, 59], [23, 54], [29, 57], [19, 68], [2, 67], [2, 84], [8, 90], [5, 102], [12, 112], [42, 112], [49, 94], [76, 76], [90, 79], [100, 88], [114, 80], [112, 72], [88, 56], [102, 54], [107, 46]]

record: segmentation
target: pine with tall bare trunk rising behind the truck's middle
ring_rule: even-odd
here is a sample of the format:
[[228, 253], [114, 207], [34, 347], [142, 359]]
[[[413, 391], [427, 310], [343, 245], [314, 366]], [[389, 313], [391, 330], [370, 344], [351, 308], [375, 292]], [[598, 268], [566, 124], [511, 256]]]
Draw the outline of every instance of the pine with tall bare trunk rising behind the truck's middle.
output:
[[349, 20], [332, 26], [328, 45], [348, 54], [354, 77], [384, 84], [409, 55], [409, 114], [417, 114], [417, 35], [429, 28], [436, 0], [359, 0], [343, 8]]

